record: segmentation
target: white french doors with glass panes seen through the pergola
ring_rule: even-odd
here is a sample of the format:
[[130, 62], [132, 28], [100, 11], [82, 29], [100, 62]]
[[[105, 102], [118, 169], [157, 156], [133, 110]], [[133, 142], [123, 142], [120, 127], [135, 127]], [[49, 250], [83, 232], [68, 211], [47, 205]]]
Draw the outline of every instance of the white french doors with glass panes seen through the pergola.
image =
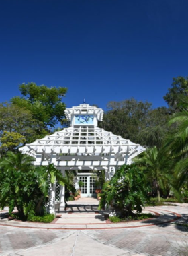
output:
[[92, 174], [79, 174], [79, 181], [83, 182], [81, 189], [82, 197], [96, 197], [95, 177]]

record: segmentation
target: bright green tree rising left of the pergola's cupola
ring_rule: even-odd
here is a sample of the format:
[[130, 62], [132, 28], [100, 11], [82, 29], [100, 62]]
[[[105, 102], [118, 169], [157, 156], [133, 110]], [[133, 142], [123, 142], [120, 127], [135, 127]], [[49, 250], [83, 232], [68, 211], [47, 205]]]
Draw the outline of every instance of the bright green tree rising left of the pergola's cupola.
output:
[[55, 127], [63, 119], [66, 106], [62, 103], [62, 97], [65, 96], [67, 88], [48, 88], [30, 82], [21, 84], [19, 90], [23, 97], [12, 98], [12, 104], [29, 110], [32, 117], [41, 123], [42, 129]]

